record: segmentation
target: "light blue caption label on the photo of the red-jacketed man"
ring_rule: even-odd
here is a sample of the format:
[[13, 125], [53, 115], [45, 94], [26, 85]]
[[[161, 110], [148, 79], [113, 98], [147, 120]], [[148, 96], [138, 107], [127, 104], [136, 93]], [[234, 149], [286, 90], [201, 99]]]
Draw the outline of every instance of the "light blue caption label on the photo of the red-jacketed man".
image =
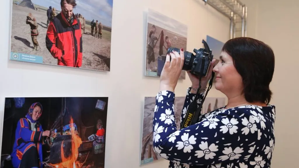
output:
[[42, 64], [42, 56], [10, 52], [10, 60]]

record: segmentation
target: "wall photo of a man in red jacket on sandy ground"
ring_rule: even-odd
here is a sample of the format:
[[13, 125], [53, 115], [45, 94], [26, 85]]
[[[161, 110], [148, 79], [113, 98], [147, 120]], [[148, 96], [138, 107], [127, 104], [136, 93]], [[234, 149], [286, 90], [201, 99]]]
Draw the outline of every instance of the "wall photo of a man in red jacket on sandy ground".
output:
[[110, 71], [113, 0], [76, 3], [67, 21], [60, 0], [12, 0], [10, 60]]

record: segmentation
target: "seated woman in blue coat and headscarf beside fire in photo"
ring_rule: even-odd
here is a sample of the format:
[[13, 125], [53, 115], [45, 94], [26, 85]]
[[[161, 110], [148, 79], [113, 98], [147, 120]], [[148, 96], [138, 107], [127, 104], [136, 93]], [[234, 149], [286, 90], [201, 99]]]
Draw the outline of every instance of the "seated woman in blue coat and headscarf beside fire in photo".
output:
[[42, 105], [33, 103], [24, 118], [21, 118], [16, 128], [16, 138], [13, 144], [12, 164], [15, 168], [42, 168], [42, 145], [50, 135], [39, 123], [42, 115]]

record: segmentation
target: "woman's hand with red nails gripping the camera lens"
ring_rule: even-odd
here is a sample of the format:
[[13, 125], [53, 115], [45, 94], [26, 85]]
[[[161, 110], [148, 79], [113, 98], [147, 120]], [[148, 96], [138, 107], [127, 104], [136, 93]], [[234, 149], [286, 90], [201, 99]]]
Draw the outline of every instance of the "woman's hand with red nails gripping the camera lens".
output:
[[[170, 61], [171, 57], [171, 61]], [[160, 76], [160, 91], [167, 90], [174, 92], [184, 65], [184, 51], [181, 48], [178, 52], [171, 52], [166, 55], [164, 67]]]

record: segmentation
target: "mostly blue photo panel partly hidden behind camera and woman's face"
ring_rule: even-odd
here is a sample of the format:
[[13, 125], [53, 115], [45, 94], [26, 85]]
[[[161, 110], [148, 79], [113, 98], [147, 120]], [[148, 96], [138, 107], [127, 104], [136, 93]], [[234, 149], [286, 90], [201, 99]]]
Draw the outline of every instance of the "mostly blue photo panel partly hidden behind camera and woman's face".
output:
[[[210, 49], [212, 50], [212, 54], [214, 55], [213, 59], [216, 59], [216, 62], [214, 64], [214, 65], [216, 65], [219, 62], [219, 57], [220, 57], [221, 50], [222, 50], [224, 43], [211, 37], [211, 36], [207, 36], [206, 42], [208, 43]], [[215, 80], [216, 80], [216, 77], [214, 77], [213, 83], [216, 82]]]

